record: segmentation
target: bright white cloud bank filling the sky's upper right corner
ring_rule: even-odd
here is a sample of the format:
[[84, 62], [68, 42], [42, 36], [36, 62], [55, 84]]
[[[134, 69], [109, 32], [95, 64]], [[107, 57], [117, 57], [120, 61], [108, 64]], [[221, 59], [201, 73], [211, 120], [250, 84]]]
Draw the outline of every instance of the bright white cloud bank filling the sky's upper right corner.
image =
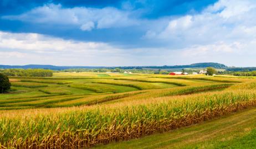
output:
[[160, 31], [152, 28], [145, 36], [179, 47], [244, 42], [256, 37], [255, 16], [255, 1], [221, 0], [200, 14], [170, 19], [166, 28]]

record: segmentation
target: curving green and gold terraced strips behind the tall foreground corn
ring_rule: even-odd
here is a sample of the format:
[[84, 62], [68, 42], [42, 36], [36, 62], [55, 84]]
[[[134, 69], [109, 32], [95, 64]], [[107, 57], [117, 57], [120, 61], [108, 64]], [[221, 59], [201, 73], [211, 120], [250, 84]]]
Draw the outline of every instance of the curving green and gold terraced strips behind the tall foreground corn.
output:
[[[194, 87], [225, 83], [238, 83], [245, 79], [234, 78], [231, 80], [198, 76], [169, 77], [166, 75], [129, 75], [114, 73], [55, 73], [54, 77], [13, 77], [11, 78], [12, 92], [1, 95], [0, 107], [2, 109], [39, 108], [39, 107], [71, 107], [74, 105], [87, 105], [91, 99], [103, 100], [117, 93], [130, 95], [140, 93], [133, 99], [144, 97], [160, 97], [160, 92], [193, 91]], [[195, 77], [193, 77], [195, 78]], [[221, 81], [220, 81], [221, 80]], [[228, 85], [229, 86], [229, 85]], [[227, 86], [227, 87], [228, 87]], [[205, 88], [205, 87], [203, 87]], [[226, 88], [226, 87], [223, 87]], [[215, 88], [207, 88], [211, 91]], [[152, 95], [153, 92], [156, 94]], [[199, 91], [201, 92], [201, 91]], [[121, 95], [122, 95], [121, 94]], [[167, 94], [167, 93], [166, 93]], [[126, 100], [129, 97], [124, 97]], [[112, 101], [115, 100], [115, 101]], [[104, 100], [104, 102], [119, 102], [117, 99]], [[103, 102], [101, 102], [103, 103]]]

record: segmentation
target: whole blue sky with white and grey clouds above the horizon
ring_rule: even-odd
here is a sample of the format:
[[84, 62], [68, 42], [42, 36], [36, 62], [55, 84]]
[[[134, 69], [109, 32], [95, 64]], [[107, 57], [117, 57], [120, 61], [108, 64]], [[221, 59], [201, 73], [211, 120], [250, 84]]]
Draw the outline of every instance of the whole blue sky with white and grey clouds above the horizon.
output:
[[256, 66], [255, 0], [0, 0], [0, 65]]

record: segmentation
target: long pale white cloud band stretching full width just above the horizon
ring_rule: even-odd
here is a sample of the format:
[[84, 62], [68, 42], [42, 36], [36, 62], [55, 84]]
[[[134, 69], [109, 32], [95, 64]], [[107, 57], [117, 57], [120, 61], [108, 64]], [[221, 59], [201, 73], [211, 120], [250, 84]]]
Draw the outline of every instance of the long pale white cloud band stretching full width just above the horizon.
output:
[[0, 32], [0, 63], [5, 65], [159, 66], [221, 62], [229, 66], [253, 66], [256, 62], [255, 47], [256, 40], [243, 43], [223, 41], [208, 45], [192, 45], [183, 49], [168, 47], [121, 49], [103, 42], [81, 42], [40, 34]]

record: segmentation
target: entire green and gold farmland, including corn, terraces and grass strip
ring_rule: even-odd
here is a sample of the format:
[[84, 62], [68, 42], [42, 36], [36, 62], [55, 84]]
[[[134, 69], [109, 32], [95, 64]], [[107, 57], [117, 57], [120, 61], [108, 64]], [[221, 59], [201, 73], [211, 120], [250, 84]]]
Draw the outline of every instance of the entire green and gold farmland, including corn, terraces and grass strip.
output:
[[11, 90], [0, 94], [3, 147], [255, 145], [254, 78], [61, 72], [9, 79]]

